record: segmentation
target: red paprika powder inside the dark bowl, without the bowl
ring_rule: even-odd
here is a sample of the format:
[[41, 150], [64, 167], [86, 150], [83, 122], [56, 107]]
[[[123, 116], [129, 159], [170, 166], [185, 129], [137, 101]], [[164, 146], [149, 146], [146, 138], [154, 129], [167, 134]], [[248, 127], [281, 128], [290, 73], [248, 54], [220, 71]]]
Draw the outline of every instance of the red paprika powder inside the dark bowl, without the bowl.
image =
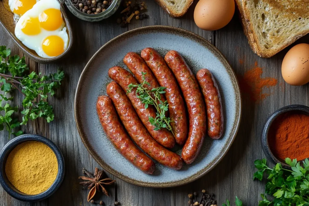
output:
[[281, 160], [309, 158], [309, 116], [295, 112], [278, 116], [269, 128], [268, 143]]

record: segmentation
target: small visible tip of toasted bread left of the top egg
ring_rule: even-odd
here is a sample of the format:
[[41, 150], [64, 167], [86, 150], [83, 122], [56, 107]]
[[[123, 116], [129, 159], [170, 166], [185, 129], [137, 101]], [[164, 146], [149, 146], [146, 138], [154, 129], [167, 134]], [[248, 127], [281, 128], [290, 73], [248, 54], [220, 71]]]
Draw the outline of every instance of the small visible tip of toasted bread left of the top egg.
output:
[[169, 14], [171, 17], [181, 17], [193, 3], [193, 0], [156, 0], [156, 2]]

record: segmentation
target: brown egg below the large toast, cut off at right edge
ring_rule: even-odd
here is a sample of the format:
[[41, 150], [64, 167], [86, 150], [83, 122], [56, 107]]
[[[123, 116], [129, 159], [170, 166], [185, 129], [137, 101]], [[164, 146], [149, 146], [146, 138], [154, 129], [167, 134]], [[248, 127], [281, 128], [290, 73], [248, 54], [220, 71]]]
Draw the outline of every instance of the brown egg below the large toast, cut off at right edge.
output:
[[300, 86], [309, 82], [309, 44], [297, 44], [286, 53], [281, 74], [290, 85]]

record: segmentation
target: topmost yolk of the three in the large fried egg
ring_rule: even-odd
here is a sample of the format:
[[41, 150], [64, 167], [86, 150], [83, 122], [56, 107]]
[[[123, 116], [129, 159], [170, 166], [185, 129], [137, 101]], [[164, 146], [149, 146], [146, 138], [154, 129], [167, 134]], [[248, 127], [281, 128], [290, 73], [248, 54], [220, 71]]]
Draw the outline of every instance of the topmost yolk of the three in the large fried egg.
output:
[[59, 9], [46, 9], [39, 15], [40, 26], [48, 31], [54, 31], [63, 24]]

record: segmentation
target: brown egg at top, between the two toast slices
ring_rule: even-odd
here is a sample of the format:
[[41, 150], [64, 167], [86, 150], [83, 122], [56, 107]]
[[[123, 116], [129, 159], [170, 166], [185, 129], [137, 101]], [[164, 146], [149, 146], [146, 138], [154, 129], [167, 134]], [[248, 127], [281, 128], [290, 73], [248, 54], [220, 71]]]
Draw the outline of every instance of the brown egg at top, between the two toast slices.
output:
[[234, 12], [234, 0], [200, 0], [194, 9], [194, 21], [201, 29], [213, 31], [226, 26]]

